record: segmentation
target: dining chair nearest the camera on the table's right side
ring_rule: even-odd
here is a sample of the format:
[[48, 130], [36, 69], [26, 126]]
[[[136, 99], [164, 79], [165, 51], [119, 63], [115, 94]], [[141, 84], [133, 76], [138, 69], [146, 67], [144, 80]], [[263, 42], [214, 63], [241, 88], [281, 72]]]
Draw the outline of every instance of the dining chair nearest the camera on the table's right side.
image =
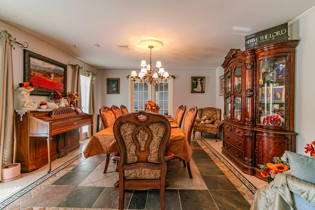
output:
[[[185, 134], [185, 138], [188, 141], [189, 145], [190, 145], [190, 137], [191, 137], [193, 124], [194, 124], [194, 121], [196, 120], [197, 114], [198, 114], [197, 107], [192, 107], [188, 110], [188, 112], [185, 116], [183, 133]], [[187, 165], [189, 178], [192, 179], [191, 170], [190, 170], [190, 163], [183, 160], [183, 164], [184, 164], [184, 166]]]

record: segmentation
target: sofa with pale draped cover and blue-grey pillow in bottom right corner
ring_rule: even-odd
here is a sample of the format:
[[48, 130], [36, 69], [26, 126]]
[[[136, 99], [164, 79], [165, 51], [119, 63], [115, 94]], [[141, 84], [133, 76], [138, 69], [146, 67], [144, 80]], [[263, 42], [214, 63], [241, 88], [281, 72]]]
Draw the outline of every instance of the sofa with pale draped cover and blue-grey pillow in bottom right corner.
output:
[[315, 210], [315, 157], [285, 151], [290, 170], [260, 185], [251, 210]]

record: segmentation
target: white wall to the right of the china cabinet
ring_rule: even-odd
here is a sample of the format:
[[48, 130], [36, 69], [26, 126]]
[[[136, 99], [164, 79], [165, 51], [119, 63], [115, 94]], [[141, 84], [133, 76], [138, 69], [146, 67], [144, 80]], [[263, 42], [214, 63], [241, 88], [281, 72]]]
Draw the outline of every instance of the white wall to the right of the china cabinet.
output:
[[[315, 7], [289, 25], [291, 39], [299, 39], [295, 69], [295, 120], [297, 153], [305, 154], [306, 144], [315, 141]], [[308, 154], [309, 155], [309, 154]]]

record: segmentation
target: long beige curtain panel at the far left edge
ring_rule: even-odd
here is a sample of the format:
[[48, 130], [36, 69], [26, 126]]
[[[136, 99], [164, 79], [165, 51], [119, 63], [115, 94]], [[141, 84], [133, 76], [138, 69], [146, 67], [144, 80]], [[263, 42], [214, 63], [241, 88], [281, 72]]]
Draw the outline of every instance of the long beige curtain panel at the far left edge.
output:
[[[13, 63], [10, 39], [0, 37], [0, 163], [14, 161]], [[0, 170], [0, 179], [2, 178]]]

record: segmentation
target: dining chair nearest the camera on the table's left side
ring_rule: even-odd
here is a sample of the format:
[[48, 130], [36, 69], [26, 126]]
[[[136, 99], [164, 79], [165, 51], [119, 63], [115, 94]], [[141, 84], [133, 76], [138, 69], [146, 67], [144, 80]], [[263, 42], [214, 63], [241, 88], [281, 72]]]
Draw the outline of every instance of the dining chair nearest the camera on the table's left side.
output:
[[[102, 120], [102, 124], [104, 126], [104, 129], [113, 126], [114, 121], [116, 120], [114, 112], [111, 108], [107, 107], [107, 106], [102, 106], [99, 109], [99, 117]], [[106, 174], [107, 172], [107, 168], [109, 165], [109, 159], [111, 155], [118, 155], [116, 152], [112, 153], [112, 154], [106, 154], [106, 163], [105, 163], [105, 168], [104, 168], [104, 174]]]

